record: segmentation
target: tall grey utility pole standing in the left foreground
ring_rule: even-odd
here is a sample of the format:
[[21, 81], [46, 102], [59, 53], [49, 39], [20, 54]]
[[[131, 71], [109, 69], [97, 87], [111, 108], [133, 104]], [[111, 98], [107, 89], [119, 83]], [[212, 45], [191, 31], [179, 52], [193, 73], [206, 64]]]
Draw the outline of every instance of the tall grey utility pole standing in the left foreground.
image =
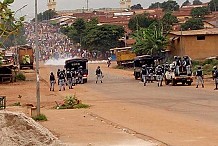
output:
[[38, 41], [38, 5], [35, 0], [35, 57], [36, 57], [36, 99], [37, 116], [40, 115], [40, 84], [39, 84], [39, 41]]

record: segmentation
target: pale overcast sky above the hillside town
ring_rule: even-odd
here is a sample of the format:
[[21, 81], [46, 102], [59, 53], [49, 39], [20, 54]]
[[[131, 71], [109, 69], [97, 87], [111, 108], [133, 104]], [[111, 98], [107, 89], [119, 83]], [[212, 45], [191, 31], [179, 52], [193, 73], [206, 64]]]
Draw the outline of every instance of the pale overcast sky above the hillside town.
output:
[[[0, 0], [2, 1], [2, 0]], [[27, 18], [32, 18], [34, 16], [34, 1], [35, 0], [15, 0], [12, 5], [13, 10], [21, 8], [23, 5], [27, 4], [28, 6], [17, 12], [17, 15], [27, 15]], [[57, 10], [72, 10], [72, 9], [82, 9], [86, 7], [86, 0], [56, 0], [57, 1]], [[158, 0], [132, 0], [132, 4], [140, 3], [143, 7], [147, 8], [151, 3], [157, 2]], [[164, 0], [159, 0], [163, 2]], [[185, 0], [178, 0], [177, 2], [181, 4]], [[189, 0], [192, 2], [193, 0]], [[202, 2], [207, 2], [209, 0], [201, 0]], [[47, 0], [38, 0], [38, 10], [43, 12], [47, 9]], [[90, 8], [105, 8], [119, 7], [119, 0], [89, 0]]]

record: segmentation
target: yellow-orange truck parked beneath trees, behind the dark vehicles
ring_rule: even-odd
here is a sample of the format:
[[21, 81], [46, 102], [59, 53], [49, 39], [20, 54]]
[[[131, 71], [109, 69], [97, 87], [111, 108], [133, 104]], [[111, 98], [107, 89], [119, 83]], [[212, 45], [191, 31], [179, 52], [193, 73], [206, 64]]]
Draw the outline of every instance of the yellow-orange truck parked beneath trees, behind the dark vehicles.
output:
[[110, 51], [112, 59], [116, 60], [118, 65], [133, 63], [136, 57], [131, 47], [113, 48]]

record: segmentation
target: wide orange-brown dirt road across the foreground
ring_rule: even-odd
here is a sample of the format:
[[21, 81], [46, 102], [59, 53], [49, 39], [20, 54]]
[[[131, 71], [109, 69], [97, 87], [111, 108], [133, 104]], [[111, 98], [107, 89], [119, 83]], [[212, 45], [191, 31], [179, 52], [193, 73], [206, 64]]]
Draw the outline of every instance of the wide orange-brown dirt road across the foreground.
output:
[[[101, 64], [104, 81], [95, 84], [94, 70], [89, 65], [87, 84], [63, 92], [48, 91], [48, 75], [58, 67], [42, 67], [42, 112], [49, 121], [42, 123], [64, 142], [76, 145], [152, 145], [216, 146], [218, 144], [218, 94], [211, 83], [204, 89], [194, 86], [146, 87], [134, 80], [131, 71], [107, 68]], [[17, 92], [3, 86], [9, 101], [34, 102], [34, 78], [19, 84]], [[13, 87], [14, 85], [12, 85]], [[1, 85], [2, 89], [2, 85]], [[57, 87], [56, 87], [57, 89]], [[15, 90], [15, 89], [14, 89]], [[23, 91], [22, 91], [23, 90]], [[24, 91], [29, 91], [24, 94]], [[22, 92], [21, 92], [22, 91]], [[10, 93], [10, 94], [9, 94]], [[92, 105], [83, 110], [54, 110], [54, 100], [76, 94], [84, 103]], [[85, 119], [85, 120], [84, 120]], [[96, 126], [97, 125], [97, 126]]]

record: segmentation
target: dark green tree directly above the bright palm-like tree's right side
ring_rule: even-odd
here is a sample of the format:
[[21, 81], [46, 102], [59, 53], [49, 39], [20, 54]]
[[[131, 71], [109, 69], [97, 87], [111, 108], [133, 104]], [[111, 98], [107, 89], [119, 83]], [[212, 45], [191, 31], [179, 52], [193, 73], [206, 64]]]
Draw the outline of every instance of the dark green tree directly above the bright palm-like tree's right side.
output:
[[164, 32], [169, 32], [172, 30], [173, 24], [178, 23], [178, 19], [171, 12], [166, 12], [162, 18], [162, 23]]

